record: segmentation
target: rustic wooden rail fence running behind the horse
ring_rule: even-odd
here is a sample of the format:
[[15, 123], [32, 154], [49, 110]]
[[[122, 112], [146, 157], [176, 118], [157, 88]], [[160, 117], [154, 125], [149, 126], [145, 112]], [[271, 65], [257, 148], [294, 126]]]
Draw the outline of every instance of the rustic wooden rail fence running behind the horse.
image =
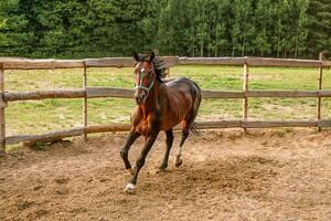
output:
[[[243, 66], [243, 91], [203, 91], [203, 98], [241, 98], [243, 99], [243, 118], [238, 120], [200, 122], [200, 129], [209, 128], [268, 128], [268, 127], [331, 127], [331, 120], [321, 119], [321, 97], [331, 97], [331, 91], [322, 91], [322, 70], [331, 66], [330, 61], [320, 60], [290, 60], [290, 59], [264, 59], [264, 57], [178, 57], [164, 56], [166, 67], [174, 65], [203, 64], [203, 65], [235, 65]], [[86, 60], [26, 60], [26, 59], [0, 59], [0, 151], [6, 150], [6, 145], [21, 141], [50, 141], [64, 137], [84, 135], [90, 133], [126, 131], [129, 125], [89, 126], [87, 119], [87, 99], [97, 97], [131, 98], [134, 91], [126, 88], [88, 87], [88, 67], [132, 67], [135, 61], [129, 57], [86, 59]], [[249, 66], [290, 66], [316, 67], [318, 74], [317, 91], [256, 91], [248, 90]], [[6, 70], [54, 70], [76, 69], [83, 70], [82, 88], [79, 90], [49, 90], [35, 92], [6, 92]], [[317, 97], [316, 120], [247, 120], [249, 97]], [[70, 130], [52, 131], [42, 135], [18, 135], [6, 137], [4, 110], [10, 102], [45, 98], [83, 98], [83, 125], [84, 127]]]

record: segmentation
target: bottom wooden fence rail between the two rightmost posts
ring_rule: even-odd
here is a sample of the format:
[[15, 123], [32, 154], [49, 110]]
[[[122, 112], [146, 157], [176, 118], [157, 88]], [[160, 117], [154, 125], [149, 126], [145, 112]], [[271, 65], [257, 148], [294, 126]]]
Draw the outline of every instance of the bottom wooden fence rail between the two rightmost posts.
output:
[[317, 120], [243, 120], [244, 128], [270, 128], [270, 127], [317, 127]]

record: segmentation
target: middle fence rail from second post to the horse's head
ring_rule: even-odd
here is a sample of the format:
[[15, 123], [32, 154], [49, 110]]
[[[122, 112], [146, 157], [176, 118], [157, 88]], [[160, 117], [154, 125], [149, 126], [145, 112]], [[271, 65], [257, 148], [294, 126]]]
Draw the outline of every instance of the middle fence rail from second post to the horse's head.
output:
[[110, 87], [87, 87], [86, 95], [88, 98], [96, 97], [118, 97], [118, 98], [132, 98], [134, 90], [127, 88], [110, 88]]

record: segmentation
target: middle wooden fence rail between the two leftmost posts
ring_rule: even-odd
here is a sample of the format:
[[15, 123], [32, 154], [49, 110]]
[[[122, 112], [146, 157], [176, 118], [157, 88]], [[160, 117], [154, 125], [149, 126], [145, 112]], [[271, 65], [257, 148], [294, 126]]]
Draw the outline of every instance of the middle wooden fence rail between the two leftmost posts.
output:
[[85, 90], [50, 90], [35, 92], [8, 92], [3, 94], [6, 102], [44, 99], [44, 98], [79, 98], [85, 96]]

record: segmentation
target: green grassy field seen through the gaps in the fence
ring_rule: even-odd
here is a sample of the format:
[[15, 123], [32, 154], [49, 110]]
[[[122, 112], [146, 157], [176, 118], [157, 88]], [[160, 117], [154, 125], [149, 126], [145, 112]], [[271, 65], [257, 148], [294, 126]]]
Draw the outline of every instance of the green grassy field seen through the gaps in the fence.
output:
[[[6, 71], [6, 91], [79, 88], [82, 70]], [[171, 77], [186, 76], [203, 90], [242, 90], [243, 67], [177, 66]], [[323, 88], [331, 90], [331, 70], [323, 72]], [[132, 69], [89, 69], [88, 86], [134, 87]], [[250, 90], [317, 90], [317, 69], [254, 67], [249, 70]], [[316, 98], [249, 98], [249, 119], [314, 119]], [[128, 123], [132, 99], [88, 101], [89, 125]], [[82, 99], [44, 99], [10, 103], [7, 135], [40, 134], [82, 126]], [[242, 117], [241, 99], [203, 101], [199, 119]], [[322, 117], [331, 118], [330, 98], [322, 99]]]

